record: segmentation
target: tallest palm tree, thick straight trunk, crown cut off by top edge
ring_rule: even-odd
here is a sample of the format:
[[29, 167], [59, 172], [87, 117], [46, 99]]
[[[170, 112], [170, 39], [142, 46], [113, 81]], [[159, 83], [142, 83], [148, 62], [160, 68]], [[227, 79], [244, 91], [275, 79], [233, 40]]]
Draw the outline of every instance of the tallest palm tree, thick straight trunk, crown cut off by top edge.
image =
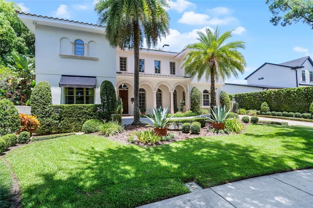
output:
[[134, 49], [134, 125], [139, 117], [139, 46], [156, 46], [157, 39], [169, 34], [166, 0], [99, 0], [94, 10], [106, 25], [106, 38], [114, 48]]

